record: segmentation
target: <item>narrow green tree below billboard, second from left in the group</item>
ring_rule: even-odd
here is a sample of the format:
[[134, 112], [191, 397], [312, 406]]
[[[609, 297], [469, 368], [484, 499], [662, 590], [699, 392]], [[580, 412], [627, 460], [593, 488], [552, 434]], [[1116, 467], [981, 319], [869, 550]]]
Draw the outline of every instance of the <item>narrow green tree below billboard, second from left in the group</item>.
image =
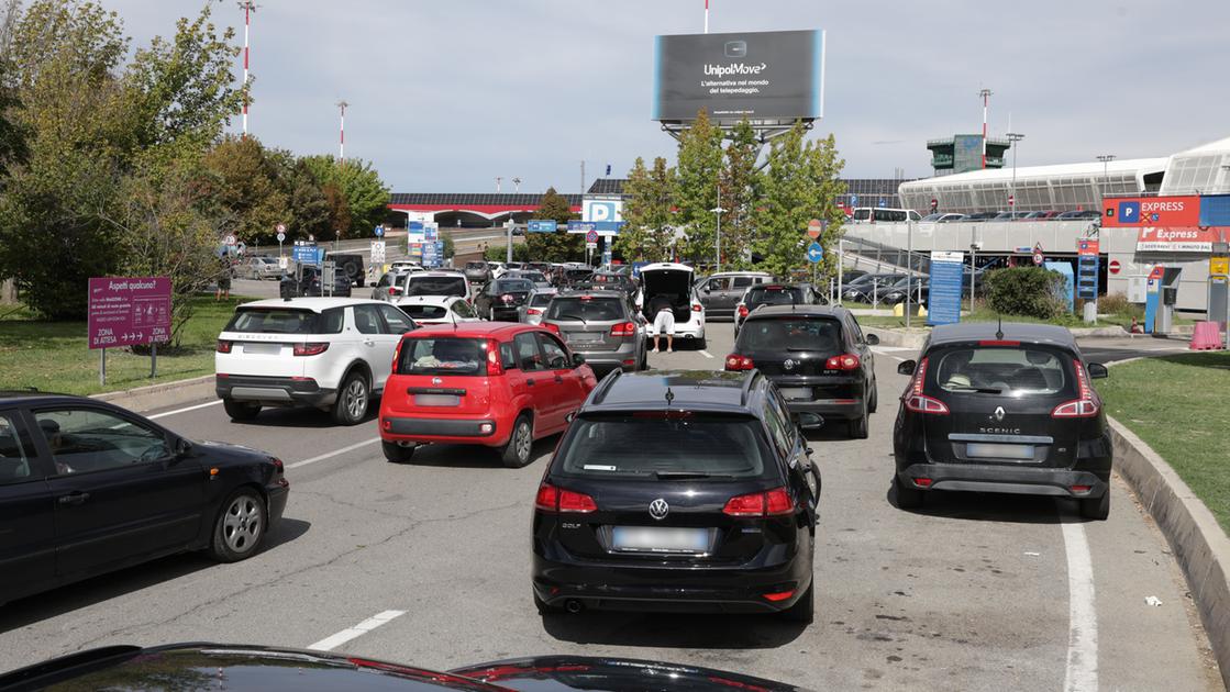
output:
[[679, 225], [688, 235], [684, 257], [712, 262], [716, 256], [717, 182], [722, 170], [722, 130], [704, 111], [679, 136], [678, 193]]

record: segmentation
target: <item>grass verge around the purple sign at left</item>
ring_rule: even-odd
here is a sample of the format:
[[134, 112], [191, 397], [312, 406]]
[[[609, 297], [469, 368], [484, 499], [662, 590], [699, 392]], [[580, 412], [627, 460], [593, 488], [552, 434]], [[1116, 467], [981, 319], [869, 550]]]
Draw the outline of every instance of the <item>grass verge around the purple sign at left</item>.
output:
[[[192, 318], [178, 349], [160, 349], [157, 377], [150, 379], [150, 356], [124, 348], [107, 349], [107, 382], [98, 383], [98, 352], [86, 345], [86, 323], [44, 322], [22, 310], [0, 320], [0, 390], [30, 387], [44, 392], [96, 395], [210, 375], [214, 344], [235, 312], [251, 297], [215, 301], [193, 299]], [[0, 311], [2, 312], [2, 311]]]

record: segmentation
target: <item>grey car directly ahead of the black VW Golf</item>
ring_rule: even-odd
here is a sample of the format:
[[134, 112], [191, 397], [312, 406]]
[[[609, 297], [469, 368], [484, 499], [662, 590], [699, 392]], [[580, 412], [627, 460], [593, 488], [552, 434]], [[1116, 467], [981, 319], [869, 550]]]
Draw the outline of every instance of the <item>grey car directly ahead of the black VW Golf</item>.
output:
[[585, 356], [595, 371], [645, 370], [645, 318], [620, 291], [576, 291], [556, 295], [542, 326]]

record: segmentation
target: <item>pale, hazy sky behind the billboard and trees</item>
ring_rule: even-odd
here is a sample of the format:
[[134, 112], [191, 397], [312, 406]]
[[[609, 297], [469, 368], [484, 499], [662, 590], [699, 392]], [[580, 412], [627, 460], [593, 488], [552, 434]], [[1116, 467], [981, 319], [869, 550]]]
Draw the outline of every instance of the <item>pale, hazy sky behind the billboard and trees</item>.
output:
[[[375, 163], [396, 192], [576, 192], [637, 155], [656, 34], [700, 33], [704, 0], [257, 0], [250, 130]], [[200, 0], [100, 0], [137, 44]], [[242, 11], [213, 2], [242, 39]], [[1026, 134], [1020, 165], [1165, 156], [1230, 135], [1225, 0], [711, 0], [712, 32], [828, 31], [825, 119], [850, 177], [930, 175], [925, 141]], [[236, 75], [241, 64], [236, 63]], [[239, 77], [236, 77], [239, 79]], [[234, 123], [239, 128], [239, 119]]]

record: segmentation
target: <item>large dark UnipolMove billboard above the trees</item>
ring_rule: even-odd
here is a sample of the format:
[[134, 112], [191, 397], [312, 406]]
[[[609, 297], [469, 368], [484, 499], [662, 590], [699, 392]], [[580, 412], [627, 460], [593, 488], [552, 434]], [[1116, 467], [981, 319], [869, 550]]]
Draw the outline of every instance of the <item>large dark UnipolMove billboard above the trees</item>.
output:
[[824, 116], [824, 32], [659, 36], [653, 43], [653, 119]]

